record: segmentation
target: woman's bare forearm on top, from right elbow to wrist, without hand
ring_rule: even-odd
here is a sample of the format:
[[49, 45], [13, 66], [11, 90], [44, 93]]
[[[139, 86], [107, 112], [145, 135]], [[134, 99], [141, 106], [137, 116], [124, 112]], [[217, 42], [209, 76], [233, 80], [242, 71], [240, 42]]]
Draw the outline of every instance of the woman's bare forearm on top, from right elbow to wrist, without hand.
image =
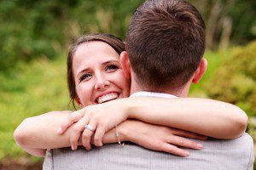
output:
[[[217, 139], [235, 139], [247, 127], [247, 115], [236, 105], [212, 99], [129, 98], [128, 117], [177, 127]], [[129, 104], [127, 104], [129, 103]]]

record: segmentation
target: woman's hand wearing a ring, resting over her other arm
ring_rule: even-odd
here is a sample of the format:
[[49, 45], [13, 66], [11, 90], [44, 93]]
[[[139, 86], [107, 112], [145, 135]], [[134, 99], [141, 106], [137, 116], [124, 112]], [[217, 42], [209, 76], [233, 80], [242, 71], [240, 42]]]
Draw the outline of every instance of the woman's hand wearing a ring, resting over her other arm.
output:
[[[87, 150], [90, 150], [90, 138], [93, 133], [95, 145], [102, 146], [104, 133], [127, 119], [128, 111], [126, 111], [126, 108], [127, 107], [122, 105], [121, 102], [119, 103], [119, 101], [89, 105], [80, 111], [73, 112], [69, 116], [68, 121], [58, 130], [58, 133], [65, 132], [67, 127], [70, 127], [76, 122], [70, 134], [70, 144], [73, 150], [77, 149], [78, 140], [83, 131], [82, 143]], [[90, 127], [85, 128], [86, 125]]]

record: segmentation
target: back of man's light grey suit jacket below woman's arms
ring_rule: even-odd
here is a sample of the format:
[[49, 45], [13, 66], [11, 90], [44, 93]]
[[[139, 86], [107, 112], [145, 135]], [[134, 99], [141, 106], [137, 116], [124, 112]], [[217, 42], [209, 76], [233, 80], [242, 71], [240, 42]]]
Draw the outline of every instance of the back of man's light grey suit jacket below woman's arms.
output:
[[189, 157], [144, 149], [136, 144], [105, 144], [90, 151], [80, 147], [49, 150], [44, 170], [62, 169], [253, 169], [253, 139], [244, 133], [234, 140], [199, 141], [202, 150], [189, 150]]

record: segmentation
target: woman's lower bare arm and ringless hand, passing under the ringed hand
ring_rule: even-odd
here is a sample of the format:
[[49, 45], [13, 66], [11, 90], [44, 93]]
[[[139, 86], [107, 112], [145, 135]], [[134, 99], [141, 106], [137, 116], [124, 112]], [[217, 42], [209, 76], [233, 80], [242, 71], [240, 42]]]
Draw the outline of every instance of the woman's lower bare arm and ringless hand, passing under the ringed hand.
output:
[[[23, 150], [26, 150], [27, 153], [30, 153], [33, 156], [44, 156], [46, 149], [69, 147], [69, 136], [72, 128], [67, 129], [67, 132], [63, 135], [57, 134], [56, 131], [57, 128], [61, 126], [62, 122], [68, 121], [71, 112], [72, 111], [53, 111], [44, 115], [27, 118], [15, 130], [16, 142]], [[118, 129], [120, 134], [119, 139], [121, 141], [131, 141], [151, 150], [166, 151], [178, 156], [186, 156], [187, 152], [178, 149], [174, 145], [180, 145], [195, 150], [201, 149], [197, 143], [180, 136], [205, 139], [205, 137], [195, 133], [189, 133], [169, 127], [150, 125], [139, 121], [123, 122], [119, 125]], [[118, 139], [116, 138], [115, 133], [115, 128], [108, 131], [108, 133], [105, 133], [103, 143], [117, 143]], [[155, 133], [160, 133], [161, 135], [155, 136]], [[156, 139], [154, 143], [148, 141], [148, 138], [152, 139], [152, 137]], [[91, 141], [91, 143], [93, 144], [93, 141]], [[80, 139], [79, 145], [81, 144], [82, 142]]]

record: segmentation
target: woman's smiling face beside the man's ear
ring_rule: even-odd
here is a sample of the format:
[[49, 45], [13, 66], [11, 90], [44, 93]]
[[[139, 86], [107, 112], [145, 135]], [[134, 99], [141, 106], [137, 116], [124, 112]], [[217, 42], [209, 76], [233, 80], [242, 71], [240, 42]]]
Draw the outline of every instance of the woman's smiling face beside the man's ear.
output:
[[126, 98], [131, 82], [125, 78], [119, 54], [108, 43], [84, 42], [73, 54], [73, 77], [80, 107]]

